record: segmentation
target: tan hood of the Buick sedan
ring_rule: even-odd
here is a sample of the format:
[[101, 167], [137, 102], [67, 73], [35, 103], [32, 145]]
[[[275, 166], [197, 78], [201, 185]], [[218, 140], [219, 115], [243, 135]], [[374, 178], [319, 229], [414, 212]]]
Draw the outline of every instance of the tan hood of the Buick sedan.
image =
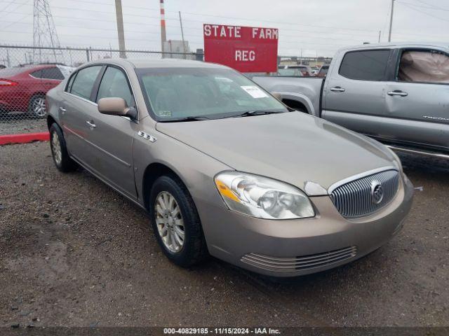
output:
[[328, 190], [350, 176], [395, 167], [377, 141], [299, 112], [157, 123], [156, 130], [233, 169], [302, 189], [314, 182]]

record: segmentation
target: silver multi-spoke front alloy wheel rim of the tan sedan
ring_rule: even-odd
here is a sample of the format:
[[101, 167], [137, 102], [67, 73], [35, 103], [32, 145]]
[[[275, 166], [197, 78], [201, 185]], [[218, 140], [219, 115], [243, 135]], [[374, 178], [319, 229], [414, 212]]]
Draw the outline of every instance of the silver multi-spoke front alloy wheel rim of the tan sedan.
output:
[[175, 197], [167, 191], [159, 193], [154, 204], [154, 214], [164, 246], [172, 253], [181, 251], [185, 241], [185, 227]]

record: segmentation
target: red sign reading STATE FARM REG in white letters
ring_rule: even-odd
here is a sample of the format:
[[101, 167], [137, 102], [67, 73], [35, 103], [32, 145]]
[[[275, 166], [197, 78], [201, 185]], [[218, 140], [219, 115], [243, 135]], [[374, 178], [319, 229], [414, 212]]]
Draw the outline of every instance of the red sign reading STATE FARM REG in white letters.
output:
[[241, 72], [276, 72], [279, 30], [203, 25], [204, 60]]

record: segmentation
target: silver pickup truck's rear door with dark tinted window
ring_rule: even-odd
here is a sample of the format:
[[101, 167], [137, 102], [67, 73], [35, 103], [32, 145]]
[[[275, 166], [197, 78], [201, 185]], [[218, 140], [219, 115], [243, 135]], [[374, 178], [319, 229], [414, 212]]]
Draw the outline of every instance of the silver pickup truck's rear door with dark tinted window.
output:
[[332, 66], [326, 77], [321, 117], [363, 134], [384, 134], [390, 54], [389, 49], [363, 49], [340, 56], [340, 66]]

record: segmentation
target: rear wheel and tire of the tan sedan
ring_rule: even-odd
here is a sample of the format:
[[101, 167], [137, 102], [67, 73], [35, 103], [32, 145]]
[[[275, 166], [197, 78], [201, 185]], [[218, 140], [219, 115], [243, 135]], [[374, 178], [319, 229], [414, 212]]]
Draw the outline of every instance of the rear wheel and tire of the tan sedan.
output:
[[53, 162], [60, 172], [72, 172], [78, 167], [76, 162], [69, 157], [64, 134], [56, 123], [53, 123], [50, 127], [50, 148]]

